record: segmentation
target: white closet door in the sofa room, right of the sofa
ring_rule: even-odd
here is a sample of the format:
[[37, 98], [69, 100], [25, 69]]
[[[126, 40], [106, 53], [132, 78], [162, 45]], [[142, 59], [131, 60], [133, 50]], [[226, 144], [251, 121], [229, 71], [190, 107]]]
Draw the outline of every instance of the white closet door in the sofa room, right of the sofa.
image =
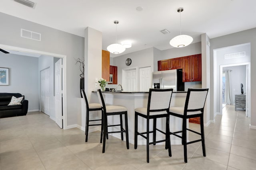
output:
[[50, 68], [41, 71], [41, 111], [50, 115]]

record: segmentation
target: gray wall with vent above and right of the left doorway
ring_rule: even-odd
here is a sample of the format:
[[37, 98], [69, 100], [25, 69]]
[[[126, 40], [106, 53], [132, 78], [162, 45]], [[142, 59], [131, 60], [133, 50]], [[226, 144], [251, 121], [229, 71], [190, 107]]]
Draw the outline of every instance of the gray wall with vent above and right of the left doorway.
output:
[[[0, 21], [0, 44], [67, 56], [67, 125], [76, 124], [76, 98], [80, 96], [80, 70], [75, 65], [74, 57], [84, 56], [84, 37], [3, 13], [0, 13]], [[41, 41], [20, 37], [21, 28], [41, 33]]]

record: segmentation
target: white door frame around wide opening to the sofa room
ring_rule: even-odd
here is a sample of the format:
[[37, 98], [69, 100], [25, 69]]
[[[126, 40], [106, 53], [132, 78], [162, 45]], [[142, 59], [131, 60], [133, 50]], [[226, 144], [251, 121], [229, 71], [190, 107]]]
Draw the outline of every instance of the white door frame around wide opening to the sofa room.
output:
[[67, 83], [66, 83], [66, 67], [67, 67], [67, 56], [66, 55], [61, 55], [61, 54], [55, 54], [55, 53], [48, 53], [45, 51], [37, 51], [37, 50], [32, 50], [32, 49], [26, 49], [26, 48], [21, 48], [21, 47], [15, 47], [15, 46], [10, 46], [10, 45], [4, 45], [0, 44], [0, 48], [2, 49], [7, 49], [7, 50], [13, 50], [13, 51], [20, 51], [20, 52], [25, 52], [25, 53], [36, 53], [40, 55], [48, 55], [52, 57], [57, 57], [57, 58], [62, 58], [62, 86], [63, 86], [63, 102], [62, 102], [62, 108], [63, 108], [63, 129], [67, 129]]

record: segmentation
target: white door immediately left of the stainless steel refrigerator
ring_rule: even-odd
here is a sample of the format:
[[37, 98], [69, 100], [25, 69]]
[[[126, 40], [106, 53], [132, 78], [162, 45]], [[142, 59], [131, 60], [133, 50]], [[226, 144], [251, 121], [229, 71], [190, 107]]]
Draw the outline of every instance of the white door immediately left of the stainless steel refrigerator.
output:
[[140, 92], [148, 92], [151, 87], [151, 67], [140, 68]]

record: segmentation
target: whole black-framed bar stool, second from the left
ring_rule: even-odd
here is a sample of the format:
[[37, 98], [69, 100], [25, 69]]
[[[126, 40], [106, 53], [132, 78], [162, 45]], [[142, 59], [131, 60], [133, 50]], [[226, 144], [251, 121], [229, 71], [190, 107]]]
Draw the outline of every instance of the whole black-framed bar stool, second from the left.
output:
[[[129, 136], [128, 136], [128, 116], [127, 116], [127, 108], [124, 106], [106, 106], [104, 102], [104, 98], [102, 96], [102, 92], [100, 89], [97, 90], [98, 98], [100, 100], [100, 104], [103, 109], [103, 147], [102, 147], [102, 153], [105, 152], [105, 145], [106, 145], [106, 135], [109, 133], [121, 133], [121, 140], [124, 140], [124, 135], [126, 135], [126, 148], [129, 149]], [[120, 124], [115, 125], [108, 125], [108, 116], [110, 115], [120, 115]], [[125, 129], [123, 128], [123, 119], [122, 115], [124, 115], [125, 119]], [[108, 131], [108, 127], [114, 127], [114, 126], [120, 126], [120, 131]]]

